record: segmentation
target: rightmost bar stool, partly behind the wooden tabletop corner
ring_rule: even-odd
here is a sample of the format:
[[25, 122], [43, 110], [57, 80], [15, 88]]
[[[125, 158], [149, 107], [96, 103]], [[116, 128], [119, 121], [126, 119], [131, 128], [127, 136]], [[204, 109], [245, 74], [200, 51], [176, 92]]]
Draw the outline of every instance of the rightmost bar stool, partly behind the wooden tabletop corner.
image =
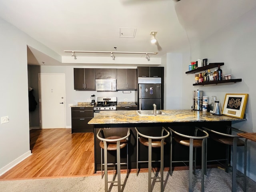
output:
[[[247, 139], [245, 139], [244, 141], [239, 139], [242, 138], [241, 136], [238, 136], [237, 134], [232, 135], [232, 134], [228, 134], [233, 132], [242, 132], [242, 133], [246, 133], [243, 130], [231, 127], [231, 126], [227, 126], [226, 132], [227, 133], [222, 133], [222, 132], [218, 132], [216, 130], [212, 130], [206, 127], [202, 127], [204, 130], [207, 130], [208, 132], [211, 132], [210, 134], [210, 138], [212, 138], [212, 140], [225, 144], [227, 145], [227, 150], [226, 150], [226, 165], [224, 166], [226, 168], [226, 172], [228, 172], [229, 168], [228, 168], [228, 164], [229, 164], [229, 154], [230, 154], [230, 147], [233, 147], [233, 157], [232, 157], [232, 192], [236, 191], [236, 148], [240, 147], [240, 146], [244, 146], [244, 192], [246, 191], [246, 156], [247, 156]], [[211, 160], [211, 161], [217, 161], [218, 163], [220, 163], [218, 160]], [[207, 161], [206, 161], [207, 163]], [[221, 164], [221, 163], [220, 163]]]

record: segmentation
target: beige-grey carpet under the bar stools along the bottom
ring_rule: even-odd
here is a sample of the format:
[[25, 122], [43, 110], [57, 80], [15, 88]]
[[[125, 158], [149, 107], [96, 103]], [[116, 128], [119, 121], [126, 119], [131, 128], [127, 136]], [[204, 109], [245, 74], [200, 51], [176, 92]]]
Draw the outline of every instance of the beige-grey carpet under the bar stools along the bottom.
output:
[[[197, 170], [197, 174], [200, 170]], [[231, 192], [231, 173], [226, 173], [218, 168], [207, 170], [205, 176], [205, 192]], [[112, 179], [112, 175], [109, 175]], [[121, 174], [121, 187], [123, 192], [146, 192], [148, 191], [148, 174], [139, 173]], [[172, 176], [164, 172], [164, 191], [187, 192], [188, 170], [174, 171]], [[242, 178], [238, 178], [237, 192], [242, 192]], [[108, 184], [108, 191], [116, 192], [117, 184]], [[159, 180], [152, 180], [153, 192], [160, 192]], [[200, 180], [194, 180], [193, 191], [201, 191]], [[256, 191], [256, 182], [247, 179], [247, 192]], [[0, 192], [104, 192], [104, 178], [101, 176], [47, 178], [0, 181]]]

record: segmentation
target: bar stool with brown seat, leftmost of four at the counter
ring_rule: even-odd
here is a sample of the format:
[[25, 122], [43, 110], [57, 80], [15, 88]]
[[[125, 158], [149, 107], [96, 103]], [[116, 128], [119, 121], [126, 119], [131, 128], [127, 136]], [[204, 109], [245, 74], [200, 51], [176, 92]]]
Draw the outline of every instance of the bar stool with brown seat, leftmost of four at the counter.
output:
[[[127, 165], [127, 173], [128, 173], [128, 137], [130, 136], [130, 128], [128, 128], [128, 132], [126, 136], [120, 137], [120, 136], [110, 136], [107, 138], [103, 138], [103, 130], [100, 128], [100, 130], [97, 133], [97, 138], [100, 140], [100, 151], [101, 151], [101, 173], [102, 173], [102, 166], [104, 165], [104, 175], [105, 175], [105, 192], [108, 192], [108, 183], [118, 183], [118, 192], [121, 191], [121, 175], [120, 170], [121, 164]], [[99, 136], [101, 133], [102, 137]], [[120, 149], [127, 146], [127, 163], [120, 163]], [[104, 149], [104, 164], [102, 164], [102, 149]], [[113, 165], [112, 163], [108, 163], [108, 150], [114, 151], [116, 150], [116, 164], [117, 165], [117, 181], [108, 181], [108, 165]], [[128, 174], [127, 174], [128, 176]]]

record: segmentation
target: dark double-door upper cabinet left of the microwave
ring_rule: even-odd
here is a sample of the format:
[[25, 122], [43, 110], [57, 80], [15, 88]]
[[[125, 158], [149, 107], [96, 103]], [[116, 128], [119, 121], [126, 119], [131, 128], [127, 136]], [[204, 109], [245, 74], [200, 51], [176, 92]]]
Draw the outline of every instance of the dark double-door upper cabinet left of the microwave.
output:
[[74, 68], [74, 89], [95, 90], [94, 69]]

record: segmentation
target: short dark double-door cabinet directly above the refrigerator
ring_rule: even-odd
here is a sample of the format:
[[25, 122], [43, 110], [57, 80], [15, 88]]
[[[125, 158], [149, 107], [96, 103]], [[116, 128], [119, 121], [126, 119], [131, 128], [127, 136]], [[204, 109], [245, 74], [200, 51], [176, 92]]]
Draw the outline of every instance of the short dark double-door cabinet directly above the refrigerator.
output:
[[138, 77], [163, 77], [163, 67], [138, 67]]

